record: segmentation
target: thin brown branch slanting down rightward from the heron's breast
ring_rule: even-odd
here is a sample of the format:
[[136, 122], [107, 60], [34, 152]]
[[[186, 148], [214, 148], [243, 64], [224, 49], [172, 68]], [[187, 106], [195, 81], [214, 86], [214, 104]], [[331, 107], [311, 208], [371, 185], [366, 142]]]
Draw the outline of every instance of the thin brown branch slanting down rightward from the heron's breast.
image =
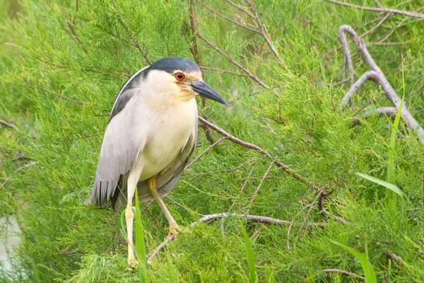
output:
[[[201, 116], [199, 116], [199, 121], [201, 123], [206, 124], [208, 127], [213, 129], [214, 131], [218, 132], [219, 134], [222, 134], [224, 137], [228, 137], [228, 139], [230, 139], [230, 141], [233, 141], [236, 144], [240, 144], [241, 146], [244, 146], [247, 149], [253, 149], [255, 151], [259, 151], [259, 153], [266, 156], [266, 158], [269, 158], [271, 161], [275, 161], [275, 158], [273, 158], [271, 156], [271, 154], [268, 153], [268, 151], [261, 149], [259, 146], [255, 145], [255, 144], [249, 144], [248, 142], [242, 141], [241, 139], [237, 139], [237, 137], [234, 137], [231, 134], [228, 134], [228, 132], [225, 132], [223, 129], [212, 124], [211, 122], [208, 122], [207, 120], [205, 120]], [[296, 180], [299, 180], [300, 182], [308, 185], [309, 187], [314, 188], [314, 190], [319, 190], [319, 187], [317, 187], [317, 185], [314, 185], [314, 183], [310, 182], [310, 180], [307, 180], [307, 179], [303, 178], [301, 175], [299, 175], [298, 173], [295, 173], [295, 171], [293, 171], [293, 169], [291, 169], [290, 167], [288, 167], [287, 165], [285, 165], [281, 161], [275, 161], [275, 163], [278, 165], [278, 167], [282, 168], [283, 171], [285, 171], [289, 175], [293, 176], [293, 178], [295, 178]]]

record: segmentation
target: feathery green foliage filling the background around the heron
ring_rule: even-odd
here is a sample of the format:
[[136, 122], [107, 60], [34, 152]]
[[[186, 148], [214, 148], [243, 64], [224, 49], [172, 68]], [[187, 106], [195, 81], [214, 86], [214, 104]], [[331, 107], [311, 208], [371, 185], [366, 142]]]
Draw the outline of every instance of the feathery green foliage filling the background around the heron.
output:
[[[370, 0], [348, 2], [376, 7]], [[344, 57], [338, 27], [351, 25], [358, 35], [371, 30], [363, 37], [370, 54], [399, 96], [405, 93], [406, 105], [423, 125], [422, 19], [392, 14], [377, 26], [386, 14], [321, 0], [257, 0], [254, 8], [280, 62], [261, 35], [216, 14], [252, 25], [229, 1], [0, 3], [0, 119], [17, 128], [0, 126], [0, 181], [7, 181], [0, 189], [0, 215], [18, 218], [22, 241], [13, 270], [0, 270], [1, 280], [137, 280], [136, 273], [125, 272], [119, 215], [110, 206], [87, 207], [83, 201], [90, 194], [102, 134], [119, 88], [148, 62], [180, 56], [245, 74], [230, 58], [252, 72], [256, 80], [204, 69], [206, 81], [230, 103], [225, 107], [198, 100], [201, 115], [331, 192], [324, 199], [331, 215], [320, 212], [317, 190], [258, 151], [227, 139], [187, 169], [165, 199], [179, 224], [189, 226], [198, 214], [247, 211], [292, 221], [291, 226], [245, 222], [261, 282], [353, 280], [324, 272], [329, 268], [363, 275], [360, 262], [331, 241], [360, 253], [366, 245], [379, 281], [424, 281], [424, 146], [401, 122], [392, 152], [393, 121], [388, 117], [362, 119], [352, 127], [354, 115], [390, 103], [374, 83], [366, 83], [353, 98], [353, 110], [343, 111], [339, 103], [346, 88], [337, 84], [343, 81]], [[418, 0], [380, 3], [422, 10]], [[240, 5], [249, 8], [245, 1]], [[351, 48], [355, 50], [353, 44]], [[353, 64], [358, 79], [367, 65], [355, 51]], [[210, 132], [209, 139], [217, 141], [220, 135]], [[210, 145], [200, 129], [196, 155]], [[389, 154], [396, 158], [395, 183], [404, 193], [395, 212], [385, 204], [383, 187], [355, 175], [384, 179]], [[153, 203], [141, 220], [147, 249], [153, 250], [167, 234], [166, 219]], [[308, 225], [312, 222], [325, 223], [324, 229]], [[404, 264], [388, 258], [388, 251]], [[155, 258], [148, 278], [247, 282], [247, 253], [237, 219], [225, 219], [222, 227], [220, 221], [200, 224], [182, 233]]]

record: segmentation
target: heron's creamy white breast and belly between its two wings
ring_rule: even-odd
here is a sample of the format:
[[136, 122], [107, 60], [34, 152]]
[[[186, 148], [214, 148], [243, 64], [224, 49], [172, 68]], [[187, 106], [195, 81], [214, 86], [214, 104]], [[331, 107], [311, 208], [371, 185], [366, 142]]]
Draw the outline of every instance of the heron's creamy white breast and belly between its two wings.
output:
[[196, 102], [184, 103], [151, 115], [153, 127], [148, 131], [146, 146], [141, 152], [143, 177], [150, 177], [162, 171], [182, 151], [196, 122]]

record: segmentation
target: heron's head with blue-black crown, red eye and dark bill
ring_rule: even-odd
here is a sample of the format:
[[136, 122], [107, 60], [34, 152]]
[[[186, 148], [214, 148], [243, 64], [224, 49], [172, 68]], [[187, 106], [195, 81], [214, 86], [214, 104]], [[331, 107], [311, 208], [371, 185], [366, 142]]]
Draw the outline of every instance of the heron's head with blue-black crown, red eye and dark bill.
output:
[[218, 92], [201, 77], [201, 70], [192, 60], [167, 57], [151, 64], [143, 72], [156, 93], [176, 96], [179, 99], [202, 96], [226, 104]]

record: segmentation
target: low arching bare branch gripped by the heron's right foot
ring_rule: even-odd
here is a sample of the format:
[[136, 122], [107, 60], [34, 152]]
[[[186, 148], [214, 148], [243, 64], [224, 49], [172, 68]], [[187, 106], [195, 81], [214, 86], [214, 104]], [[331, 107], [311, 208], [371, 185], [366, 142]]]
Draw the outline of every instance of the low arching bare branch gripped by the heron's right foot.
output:
[[[205, 215], [201, 219], [194, 221], [192, 224], [190, 224], [190, 226], [193, 228], [194, 226], [201, 224], [201, 223], [208, 225], [208, 224], [211, 224], [216, 219], [220, 219], [221, 217], [226, 218], [226, 217], [229, 217], [229, 216], [239, 216], [240, 218], [245, 219], [246, 221], [265, 223], [265, 224], [274, 224], [274, 225], [278, 225], [278, 226], [290, 224], [290, 221], [276, 219], [276, 218], [272, 218], [272, 217], [268, 217], [268, 216], [246, 215], [246, 214], [235, 214], [235, 213], [217, 213], [217, 214]], [[318, 227], [324, 227], [325, 226], [325, 224], [323, 224], [323, 223], [310, 223], [308, 225], [318, 226]], [[174, 235], [171, 235], [171, 236], [165, 238], [165, 241], [160, 243], [159, 246], [157, 246], [154, 250], [152, 250], [152, 252], [149, 255], [147, 255], [147, 262], [149, 263], [149, 265], [153, 261], [153, 258], [155, 258], [155, 256], [158, 255], [160, 250], [163, 250], [163, 248], [165, 248], [167, 243], [170, 243], [173, 240], [174, 240]]]

